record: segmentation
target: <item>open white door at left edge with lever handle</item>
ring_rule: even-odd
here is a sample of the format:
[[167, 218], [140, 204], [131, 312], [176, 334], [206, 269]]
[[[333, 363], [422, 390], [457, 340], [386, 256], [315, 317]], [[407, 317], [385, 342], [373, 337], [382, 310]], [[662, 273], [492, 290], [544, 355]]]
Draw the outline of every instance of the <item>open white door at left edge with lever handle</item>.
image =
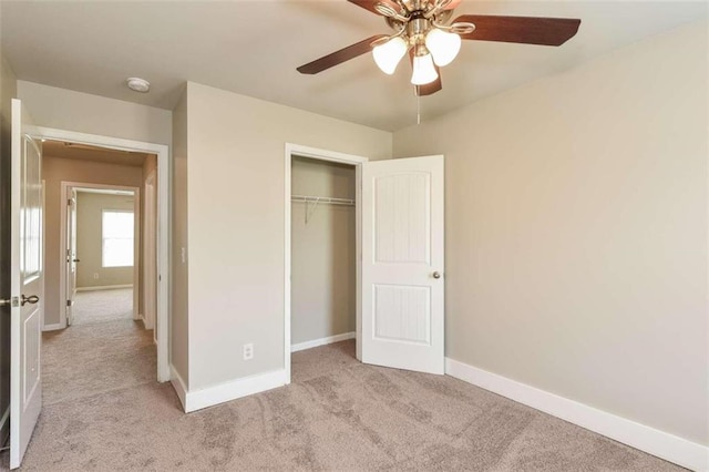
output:
[[10, 468], [20, 466], [42, 409], [41, 144], [19, 100], [12, 100]]

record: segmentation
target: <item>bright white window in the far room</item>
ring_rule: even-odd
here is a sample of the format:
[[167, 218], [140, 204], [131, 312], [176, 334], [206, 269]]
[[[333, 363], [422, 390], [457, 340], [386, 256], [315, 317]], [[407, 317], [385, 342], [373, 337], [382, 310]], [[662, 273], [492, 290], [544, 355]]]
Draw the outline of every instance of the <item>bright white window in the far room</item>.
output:
[[133, 267], [133, 212], [103, 211], [103, 267]]

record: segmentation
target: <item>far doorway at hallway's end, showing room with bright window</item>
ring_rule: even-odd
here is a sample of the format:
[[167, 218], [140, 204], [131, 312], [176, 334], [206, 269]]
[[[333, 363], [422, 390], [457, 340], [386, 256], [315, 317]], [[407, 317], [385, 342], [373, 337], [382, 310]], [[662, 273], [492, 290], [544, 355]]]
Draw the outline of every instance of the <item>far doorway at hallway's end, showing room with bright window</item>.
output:
[[[51, 157], [50, 157], [51, 158]], [[61, 183], [61, 248], [65, 252], [60, 281], [60, 326], [114, 319], [144, 324], [143, 306], [155, 293], [138, 290], [140, 267], [147, 263], [138, 187]], [[48, 228], [49, 229], [49, 228]], [[51, 304], [51, 300], [48, 301]], [[152, 329], [147, 327], [146, 329]]]

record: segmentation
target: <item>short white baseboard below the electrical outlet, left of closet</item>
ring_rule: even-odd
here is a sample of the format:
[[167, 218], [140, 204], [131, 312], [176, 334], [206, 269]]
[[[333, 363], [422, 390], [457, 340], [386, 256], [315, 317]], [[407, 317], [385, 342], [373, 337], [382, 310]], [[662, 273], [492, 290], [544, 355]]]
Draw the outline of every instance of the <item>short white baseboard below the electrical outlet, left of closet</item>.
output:
[[[237, 398], [275, 389], [286, 384], [286, 371], [284, 369], [256, 376], [237, 379], [232, 382], [220, 383], [205, 389], [187, 391], [185, 396], [185, 412], [202, 410], [236, 400]], [[179, 393], [178, 393], [179, 394]]]

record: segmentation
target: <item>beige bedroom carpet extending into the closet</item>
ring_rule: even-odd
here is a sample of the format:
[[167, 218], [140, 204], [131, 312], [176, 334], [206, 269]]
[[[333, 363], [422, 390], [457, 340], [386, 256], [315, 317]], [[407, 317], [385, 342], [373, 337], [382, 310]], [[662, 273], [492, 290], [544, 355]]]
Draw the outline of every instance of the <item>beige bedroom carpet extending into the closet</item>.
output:
[[451, 377], [361, 365], [353, 349], [297, 352], [292, 384], [189, 414], [155, 382], [49, 404], [23, 469], [681, 470]]

